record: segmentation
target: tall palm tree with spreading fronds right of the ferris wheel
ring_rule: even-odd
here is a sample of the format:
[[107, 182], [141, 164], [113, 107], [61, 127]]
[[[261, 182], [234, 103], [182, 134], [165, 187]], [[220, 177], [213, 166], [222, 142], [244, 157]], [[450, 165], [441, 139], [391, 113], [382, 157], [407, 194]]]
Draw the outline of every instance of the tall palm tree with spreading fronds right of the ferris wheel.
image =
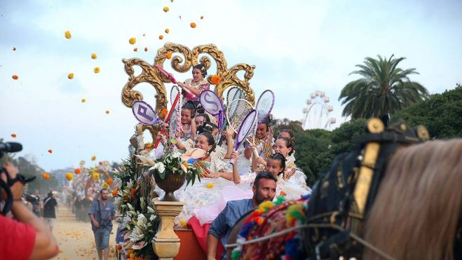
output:
[[[428, 91], [423, 85], [409, 80], [410, 74], [419, 74], [416, 69], [400, 69], [398, 63], [405, 60], [380, 57], [365, 58], [365, 64], [358, 64], [360, 70], [351, 74], [360, 74], [362, 78], [351, 81], [341, 90], [339, 100], [346, 104], [342, 116], [355, 118], [388, 118], [391, 114], [409, 104], [425, 100]], [[350, 74], [350, 75], [351, 75]]]

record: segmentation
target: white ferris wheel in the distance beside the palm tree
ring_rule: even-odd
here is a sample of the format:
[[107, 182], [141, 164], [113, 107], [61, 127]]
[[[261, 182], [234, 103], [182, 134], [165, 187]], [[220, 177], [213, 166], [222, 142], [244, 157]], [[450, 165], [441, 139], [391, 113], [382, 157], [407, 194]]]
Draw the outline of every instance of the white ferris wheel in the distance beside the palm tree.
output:
[[325, 129], [337, 122], [336, 118], [330, 116], [334, 106], [329, 104], [330, 98], [325, 92], [316, 90], [306, 100], [306, 107], [303, 109], [304, 118], [301, 120], [304, 129]]

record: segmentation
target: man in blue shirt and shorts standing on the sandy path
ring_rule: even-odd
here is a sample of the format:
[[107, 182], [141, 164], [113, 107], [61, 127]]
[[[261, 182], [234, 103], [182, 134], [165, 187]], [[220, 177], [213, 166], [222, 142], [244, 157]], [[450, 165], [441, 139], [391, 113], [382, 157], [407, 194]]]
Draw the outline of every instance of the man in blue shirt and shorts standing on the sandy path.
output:
[[91, 219], [91, 228], [95, 235], [95, 244], [98, 258], [107, 260], [109, 254], [109, 235], [112, 231], [112, 220], [116, 211], [112, 201], [109, 200], [109, 191], [101, 189], [101, 199], [93, 200], [88, 215]]

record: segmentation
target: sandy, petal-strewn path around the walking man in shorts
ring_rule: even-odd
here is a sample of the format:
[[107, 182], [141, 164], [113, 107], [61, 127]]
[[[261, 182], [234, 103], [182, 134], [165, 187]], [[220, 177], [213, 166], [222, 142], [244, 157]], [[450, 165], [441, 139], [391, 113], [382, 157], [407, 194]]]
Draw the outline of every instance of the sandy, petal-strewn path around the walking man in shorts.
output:
[[[116, 259], [114, 256], [116, 228], [117, 224], [114, 224], [109, 238], [109, 248], [111, 249], [109, 259]], [[58, 209], [53, 235], [60, 246], [60, 254], [53, 259], [98, 259], [90, 222], [76, 221], [74, 214], [66, 207]]]

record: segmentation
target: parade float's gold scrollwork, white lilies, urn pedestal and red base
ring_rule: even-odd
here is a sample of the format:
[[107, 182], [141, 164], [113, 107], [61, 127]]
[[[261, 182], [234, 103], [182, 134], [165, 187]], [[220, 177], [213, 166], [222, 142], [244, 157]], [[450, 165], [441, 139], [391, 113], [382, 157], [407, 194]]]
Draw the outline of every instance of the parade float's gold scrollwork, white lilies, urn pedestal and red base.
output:
[[[185, 73], [201, 63], [209, 70], [212, 61], [216, 66], [215, 74], [209, 71], [212, 75], [205, 79], [210, 83], [210, 89], [223, 98], [224, 90], [237, 87], [244, 93], [243, 98], [253, 105], [254, 92], [249, 81], [254, 74], [254, 66], [240, 63], [228, 67], [224, 53], [213, 44], [196, 46], [190, 50], [177, 43], [165, 43], [157, 51], [152, 64], [137, 58], [123, 60], [128, 82], [122, 90], [122, 102], [128, 108], [133, 108], [135, 102], [140, 100], [154, 104], [152, 107], [158, 117], [166, 121], [172, 110], [168, 105], [168, 93], [175, 80], [168, 74], [165, 76], [162, 69]], [[140, 74], [135, 74], [135, 67], [141, 68]], [[243, 78], [238, 73], [243, 73]], [[140, 83], [151, 85], [156, 95], [144, 97], [134, 89]], [[127, 254], [128, 258], [152, 259], [158, 256], [160, 259], [205, 259], [205, 252], [198, 245], [191, 229], [186, 228], [186, 223], [175, 229], [173, 224], [173, 219], [186, 203], [177, 201], [172, 191], [179, 189], [186, 179], [191, 182], [189, 185], [193, 185], [196, 176], [201, 175], [201, 170], [168, 149], [157, 160], [149, 157], [160, 130], [160, 125], [135, 125], [135, 134], [130, 138], [130, 157], [114, 175], [116, 188], [112, 194], [114, 205], [123, 217], [121, 226], [125, 238], [118, 249]], [[148, 138], [153, 142], [147, 142]], [[158, 198], [158, 193], [154, 191], [156, 185], [166, 193], [162, 198]]]

